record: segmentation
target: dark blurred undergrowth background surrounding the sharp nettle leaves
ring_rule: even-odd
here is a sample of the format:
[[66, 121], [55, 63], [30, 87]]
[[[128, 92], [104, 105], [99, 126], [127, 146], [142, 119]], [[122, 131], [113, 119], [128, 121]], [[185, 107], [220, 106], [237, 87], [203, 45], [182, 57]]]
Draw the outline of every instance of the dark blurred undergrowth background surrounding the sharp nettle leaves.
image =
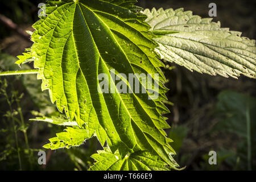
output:
[[[32, 68], [31, 63], [22, 68], [14, 63], [15, 57], [32, 44], [24, 31], [33, 31], [31, 25], [39, 19], [37, 6], [41, 2], [0, 0], [0, 19], [6, 17], [13, 22], [7, 21], [7, 25], [0, 20], [0, 71]], [[255, 1], [141, 0], [138, 5], [149, 9], [184, 7], [207, 18], [211, 2], [217, 5], [215, 22], [255, 39]], [[171, 125], [167, 133], [174, 140], [172, 146], [180, 166], [187, 166], [186, 170], [255, 170], [255, 80], [202, 75], [169, 65], [164, 73], [170, 88], [167, 97], [173, 104], [167, 105], [171, 110], [166, 115]], [[39, 166], [38, 151], [43, 150], [48, 138], [64, 129], [28, 121], [44, 115], [59, 113], [49, 102], [48, 93], [40, 90], [35, 75], [0, 77], [0, 169], [88, 169], [93, 162], [90, 155], [101, 148], [96, 138], [71, 150], [47, 150], [47, 165]], [[217, 152], [217, 165], [209, 165], [209, 151]]]

